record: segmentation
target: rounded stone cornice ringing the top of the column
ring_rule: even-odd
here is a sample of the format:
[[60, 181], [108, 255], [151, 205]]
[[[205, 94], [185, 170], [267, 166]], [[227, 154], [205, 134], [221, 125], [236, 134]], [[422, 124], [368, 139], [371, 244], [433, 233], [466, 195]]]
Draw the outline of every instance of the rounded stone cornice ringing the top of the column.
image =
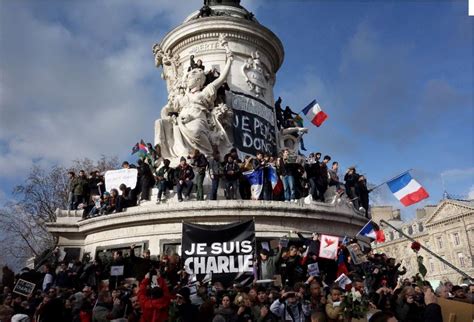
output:
[[[273, 73], [283, 63], [283, 44], [272, 31], [260, 24], [228, 16], [200, 18], [184, 23], [170, 31], [161, 41], [161, 46], [165, 52], [168, 49], [180, 52], [199, 41], [217, 39], [219, 34], [226, 35], [230, 42], [232, 39], [246, 41], [265, 52], [271, 60]], [[232, 49], [232, 45], [230, 47]]]

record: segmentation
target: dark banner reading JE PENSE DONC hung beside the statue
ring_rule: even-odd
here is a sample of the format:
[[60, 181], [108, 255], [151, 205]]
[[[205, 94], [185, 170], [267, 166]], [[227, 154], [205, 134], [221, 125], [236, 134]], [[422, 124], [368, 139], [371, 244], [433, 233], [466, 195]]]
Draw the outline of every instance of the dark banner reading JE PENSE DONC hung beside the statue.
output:
[[234, 112], [234, 146], [245, 154], [257, 151], [276, 154], [274, 109], [253, 96], [226, 92], [227, 105]]

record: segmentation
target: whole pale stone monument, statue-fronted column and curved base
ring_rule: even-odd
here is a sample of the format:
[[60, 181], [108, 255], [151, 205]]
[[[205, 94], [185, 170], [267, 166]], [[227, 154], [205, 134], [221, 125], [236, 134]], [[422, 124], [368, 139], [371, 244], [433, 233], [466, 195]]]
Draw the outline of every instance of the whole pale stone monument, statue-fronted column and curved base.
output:
[[[276, 155], [284, 148], [297, 151], [306, 129], [282, 129], [274, 107], [283, 45], [240, 1], [205, 1], [153, 45], [152, 52], [168, 90], [155, 122], [155, 144], [163, 157], [176, 164], [193, 149], [211, 155], [236, 148], [241, 156], [256, 151]], [[152, 254], [179, 252], [183, 221], [225, 224], [254, 219], [260, 241], [292, 231], [355, 235], [367, 221], [364, 214], [340, 198], [331, 200], [147, 203], [90, 219], [83, 219], [80, 211], [58, 210], [57, 221], [48, 228], [62, 250], [78, 257], [128, 249], [131, 244]]]

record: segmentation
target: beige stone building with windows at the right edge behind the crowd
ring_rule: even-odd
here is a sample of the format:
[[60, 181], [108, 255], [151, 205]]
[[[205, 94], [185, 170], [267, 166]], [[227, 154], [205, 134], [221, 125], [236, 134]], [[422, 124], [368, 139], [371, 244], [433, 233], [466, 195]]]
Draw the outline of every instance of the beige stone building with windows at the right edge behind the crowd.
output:
[[[375, 222], [388, 221], [406, 235], [418, 241], [441, 258], [459, 268], [469, 276], [474, 276], [474, 202], [452, 199], [442, 200], [438, 205], [418, 209], [416, 218], [409, 222], [400, 219], [400, 211], [392, 207], [373, 207], [372, 217]], [[384, 226], [386, 241], [375, 246], [377, 252], [386, 253], [396, 258], [408, 270], [406, 276], [418, 272], [416, 254], [411, 249], [412, 241], [398, 231]], [[421, 249], [423, 263], [428, 270], [429, 281], [450, 280], [455, 284], [466, 282], [466, 279]]]

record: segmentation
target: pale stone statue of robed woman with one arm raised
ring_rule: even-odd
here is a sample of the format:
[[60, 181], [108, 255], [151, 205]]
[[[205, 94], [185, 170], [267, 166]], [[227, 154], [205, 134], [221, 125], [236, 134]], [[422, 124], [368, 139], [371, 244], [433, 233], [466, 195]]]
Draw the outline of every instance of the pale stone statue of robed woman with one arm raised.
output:
[[206, 86], [202, 69], [191, 69], [187, 73], [186, 90], [168, 100], [166, 113], [162, 113], [162, 119], [156, 123], [155, 143], [160, 143], [164, 157], [188, 155], [194, 149], [211, 155], [215, 149], [226, 151], [230, 148], [225, 131], [228, 120], [223, 120], [229, 113], [222, 112], [222, 106], [213, 110], [217, 91], [225, 82], [232, 61], [232, 54], [227, 53], [223, 72]]

